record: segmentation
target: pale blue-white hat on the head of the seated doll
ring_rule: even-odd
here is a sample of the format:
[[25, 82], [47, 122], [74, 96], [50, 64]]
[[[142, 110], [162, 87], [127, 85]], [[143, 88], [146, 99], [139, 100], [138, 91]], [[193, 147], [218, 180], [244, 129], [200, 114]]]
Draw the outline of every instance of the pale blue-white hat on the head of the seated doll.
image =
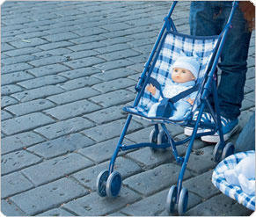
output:
[[200, 69], [200, 63], [194, 56], [179, 56], [172, 65], [172, 69], [174, 68], [190, 70], [196, 80]]

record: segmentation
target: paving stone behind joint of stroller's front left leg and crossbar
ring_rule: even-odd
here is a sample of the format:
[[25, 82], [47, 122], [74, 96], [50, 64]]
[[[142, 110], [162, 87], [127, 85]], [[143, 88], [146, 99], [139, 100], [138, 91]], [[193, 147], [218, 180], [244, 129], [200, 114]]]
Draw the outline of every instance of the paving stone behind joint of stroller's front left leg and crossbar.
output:
[[[78, 150], [78, 153], [88, 157], [95, 163], [102, 163], [106, 160], [111, 159], [111, 157], [113, 156], [113, 152], [118, 144], [118, 141], [119, 138], [114, 138], [108, 141], [99, 142], [90, 147]], [[132, 144], [132, 142], [124, 139], [123, 144], [129, 145]], [[120, 151], [118, 155], [123, 156], [127, 152], [128, 151]]]

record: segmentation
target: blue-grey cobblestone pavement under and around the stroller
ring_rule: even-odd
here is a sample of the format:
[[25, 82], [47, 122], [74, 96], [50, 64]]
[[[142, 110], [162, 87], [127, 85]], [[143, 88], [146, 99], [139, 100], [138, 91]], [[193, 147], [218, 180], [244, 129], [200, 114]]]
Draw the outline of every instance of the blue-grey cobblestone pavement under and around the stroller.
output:
[[[167, 215], [177, 182], [171, 150], [122, 152], [117, 199], [100, 198], [96, 178], [108, 168], [135, 83], [170, 2], [5, 2], [2, 18], [2, 212], [5, 215]], [[189, 2], [172, 18], [189, 33]], [[240, 129], [254, 111], [252, 34]], [[148, 141], [152, 126], [133, 120], [126, 144]], [[183, 128], [169, 126], [180, 139]], [[236, 141], [236, 134], [231, 141]], [[195, 141], [184, 185], [187, 215], [249, 215], [210, 178], [214, 146]], [[184, 154], [186, 146], [179, 147]]]

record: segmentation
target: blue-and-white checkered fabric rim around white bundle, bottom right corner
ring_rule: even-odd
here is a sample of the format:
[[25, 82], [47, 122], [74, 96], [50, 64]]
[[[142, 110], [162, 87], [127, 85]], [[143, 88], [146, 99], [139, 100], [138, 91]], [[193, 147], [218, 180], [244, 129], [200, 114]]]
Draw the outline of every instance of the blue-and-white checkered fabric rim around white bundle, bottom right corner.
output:
[[252, 155], [255, 156], [255, 151], [240, 152], [225, 158], [216, 166], [212, 175], [212, 183], [231, 199], [236, 199], [239, 204], [242, 204], [248, 209], [255, 210], [255, 196], [247, 195], [238, 185], [228, 184], [224, 177], [224, 171], [234, 169], [245, 156]]

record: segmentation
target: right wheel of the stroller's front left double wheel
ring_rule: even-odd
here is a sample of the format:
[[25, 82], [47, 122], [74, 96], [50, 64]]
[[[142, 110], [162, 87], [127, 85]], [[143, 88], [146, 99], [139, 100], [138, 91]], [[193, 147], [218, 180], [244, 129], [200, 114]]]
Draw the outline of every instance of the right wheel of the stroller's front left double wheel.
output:
[[118, 196], [120, 190], [121, 174], [117, 171], [114, 171], [106, 180], [106, 195], [109, 198], [115, 198]]

